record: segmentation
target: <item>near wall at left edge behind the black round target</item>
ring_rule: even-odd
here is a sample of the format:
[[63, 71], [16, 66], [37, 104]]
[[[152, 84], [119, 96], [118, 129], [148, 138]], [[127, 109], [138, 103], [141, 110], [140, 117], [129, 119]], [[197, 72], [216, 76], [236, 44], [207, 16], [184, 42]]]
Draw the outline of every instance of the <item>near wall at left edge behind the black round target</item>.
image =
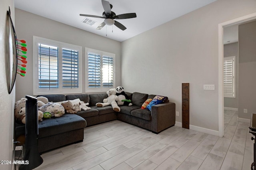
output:
[[[15, 21], [14, 0], [1, 0], [0, 3], [0, 160], [12, 160], [14, 136], [14, 102], [15, 102], [15, 87], [11, 94], [8, 94], [6, 82], [6, 67], [5, 67], [5, 43], [6, 43], [6, 16], [10, 6], [11, 17]], [[0, 164], [0, 169], [11, 169], [12, 165]]]

